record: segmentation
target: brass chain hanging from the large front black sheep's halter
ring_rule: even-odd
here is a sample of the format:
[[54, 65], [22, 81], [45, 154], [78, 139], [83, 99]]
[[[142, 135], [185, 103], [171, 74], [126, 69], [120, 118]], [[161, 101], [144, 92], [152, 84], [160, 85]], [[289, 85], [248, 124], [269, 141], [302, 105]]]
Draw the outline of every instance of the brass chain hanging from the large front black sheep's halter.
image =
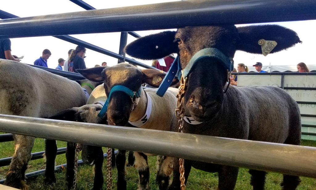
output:
[[[181, 71], [182, 72], [182, 71]], [[177, 95], [178, 102], [177, 102], [177, 109], [175, 110], [176, 117], [178, 119], [178, 132], [183, 133], [183, 117], [184, 117], [184, 108], [183, 108], [183, 96], [186, 90], [186, 82], [188, 78], [183, 79], [183, 75], [180, 79], [180, 86], [179, 86], [179, 94]], [[180, 188], [181, 190], [185, 190], [185, 177], [184, 177], [184, 159], [179, 158], [179, 172], [180, 172]]]

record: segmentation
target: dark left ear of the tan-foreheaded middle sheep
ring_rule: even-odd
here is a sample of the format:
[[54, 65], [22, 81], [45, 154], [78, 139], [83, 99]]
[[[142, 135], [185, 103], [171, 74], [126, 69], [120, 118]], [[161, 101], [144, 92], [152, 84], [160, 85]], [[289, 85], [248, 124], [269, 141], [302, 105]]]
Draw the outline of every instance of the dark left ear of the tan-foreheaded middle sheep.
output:
[[89, 69], [77, 69], [78, 73], [82, 74], [82, 76], [88, 80], [94, 82], [103, 82], [105, 79], [105, 75], [103, 70], [107, 66], [96, 66]]

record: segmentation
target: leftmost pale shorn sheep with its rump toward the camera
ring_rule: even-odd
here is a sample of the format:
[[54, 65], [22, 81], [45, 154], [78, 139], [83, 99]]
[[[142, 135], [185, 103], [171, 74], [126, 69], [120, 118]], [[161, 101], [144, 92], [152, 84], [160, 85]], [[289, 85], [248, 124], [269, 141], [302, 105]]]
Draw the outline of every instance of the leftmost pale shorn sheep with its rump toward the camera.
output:
[[[76, 82], [27, 64], [2, 59], [0, 76], [0, 113], [16, 116], [45, 118], [67, 108], [85, 105], [88, 93], [92, 92], [90, 86], [96, 85], [86, 79]], [[85, 89], [78, 84], [81, 82], [85, 83]], [[28, 189], [24, 182], [25, 170], [31, 158], [34, 137], [14, 135], [14, 141], [15, 153], [4, 184]], [[54, 162], [47, 164], [53, 166], [49, 166], [46, 173], [49, 168], [53, 171]], [[46, 181], [51, 183], [56, 179], [47, 174]]]

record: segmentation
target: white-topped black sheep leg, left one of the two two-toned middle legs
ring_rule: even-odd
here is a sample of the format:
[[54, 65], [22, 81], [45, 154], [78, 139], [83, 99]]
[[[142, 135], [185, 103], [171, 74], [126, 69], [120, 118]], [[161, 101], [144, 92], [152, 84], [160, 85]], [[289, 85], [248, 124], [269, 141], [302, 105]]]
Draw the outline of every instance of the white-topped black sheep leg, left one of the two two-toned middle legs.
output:
[[134, 156], [134, 167], [138, 170], [139, 174], [138, 190], [149, 189], [149, 167], [147, 155], [141, 152], [134, 152]]

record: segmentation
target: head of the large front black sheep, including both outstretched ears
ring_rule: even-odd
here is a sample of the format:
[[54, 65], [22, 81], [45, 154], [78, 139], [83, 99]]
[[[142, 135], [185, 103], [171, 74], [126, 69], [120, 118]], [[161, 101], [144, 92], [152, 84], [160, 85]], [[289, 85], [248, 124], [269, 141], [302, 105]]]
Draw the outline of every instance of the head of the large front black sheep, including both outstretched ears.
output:
[[[260, 39], [277, 41], [277, 46], [270, 53], [301, 42], [293, 30], [278, 25], [187, 27], [139, 38], [126, 46], [125, 52], [143, 60], [177, 53], [182, 68], [185, 68], [192, 56], [204, 48], [217, 48], [228, 58], [233, 58], [236, 50], [261, 54]], [[185, 114], [197, 121], [215, 117], [222, 106], [226, 79], [226, 68], [217, 60], [199, 60], [188, 75]]]

